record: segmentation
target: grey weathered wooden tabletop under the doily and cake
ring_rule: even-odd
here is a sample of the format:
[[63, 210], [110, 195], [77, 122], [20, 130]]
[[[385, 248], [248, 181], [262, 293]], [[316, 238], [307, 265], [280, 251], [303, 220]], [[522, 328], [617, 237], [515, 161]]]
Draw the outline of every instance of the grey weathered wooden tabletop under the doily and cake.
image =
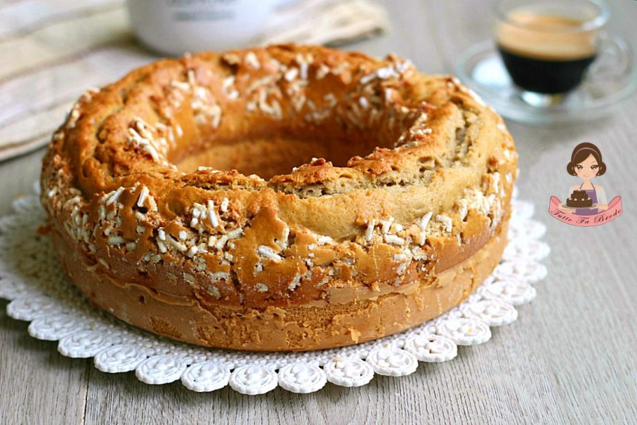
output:
[[[353, 49], [395, 51], [419, 69], [453, 72], [454, 58], [489, 36], [489, 2], [386, 1], [392, 34]], [[637, 40], [637, 1], [612, 2], [611, 28]], [[0, 88], [1, 90], [1, 88]], [[492, 340], [405, 378], [376, 376], [365, 387], [328, 384], [301, 396], [276, 389], [242, 396], [229, 387], [193, 393], [180, 383], [151, 386], [132, 373], [104, 374], [90, 360], [61, 356], [27, 335], [0, 302], [0, 423], [636, 423], [637, 97], [610, 119], [529, 127], [508, 123], [520, 153], [520, 196], [547, 224], [549, 276], [519, 319]], [[608, 165], [599, 180], [623, 197], [622, 217], [597, 228], [549, 217], [550, 195], [575, 184], [571, 149], [597, 144]], [[0, 164], [0, 213], [26, 193], [42, 151]]]

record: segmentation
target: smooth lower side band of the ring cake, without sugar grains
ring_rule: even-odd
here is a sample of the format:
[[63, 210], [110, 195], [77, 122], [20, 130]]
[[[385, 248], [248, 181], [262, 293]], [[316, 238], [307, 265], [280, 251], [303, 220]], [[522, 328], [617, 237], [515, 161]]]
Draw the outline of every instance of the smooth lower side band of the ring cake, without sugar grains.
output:
[[73, 243], [53, 232], [57, 252], [71, 282], [92, 304], [128, 324], [157, 335], [207, 347], [236, 350], [318, 350], [371, 341], [424, 323], [464, 301], [499, 262], [508, 221], [462, 263], [416, 282], [403, 292], [327, 304], [266, 308], [202, 308], [189, 298], [164, 296], [139, 284], [95, 274]]

